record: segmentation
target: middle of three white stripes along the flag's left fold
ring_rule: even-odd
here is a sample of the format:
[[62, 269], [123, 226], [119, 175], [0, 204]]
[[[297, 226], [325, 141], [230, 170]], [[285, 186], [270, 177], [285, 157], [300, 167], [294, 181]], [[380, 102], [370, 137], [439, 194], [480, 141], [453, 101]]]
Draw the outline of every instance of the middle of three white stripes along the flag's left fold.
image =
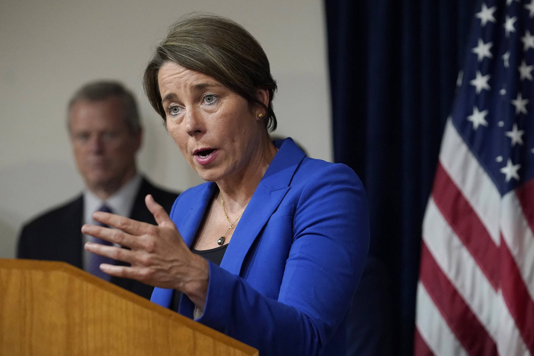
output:
[[[423, 221], [423, 241], [443, 273], [496, 339], [499, 327], [497, 293], [473, 256], [451, 230], [432, 198], [428, 201]], [[508, 318], [512, 320], [511, 316]], [[519, 333], [516, 335], [519, 337]]]

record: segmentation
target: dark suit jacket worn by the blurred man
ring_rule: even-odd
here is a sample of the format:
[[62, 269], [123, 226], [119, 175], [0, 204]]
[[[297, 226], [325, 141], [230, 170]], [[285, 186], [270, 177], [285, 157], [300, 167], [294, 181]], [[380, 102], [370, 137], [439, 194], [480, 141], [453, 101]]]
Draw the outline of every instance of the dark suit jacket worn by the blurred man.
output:
[[[154, 200], [169, 212], [178, 196], [153, 186], [143, 178], [130, 218], [156, 225], [156, 221], [145, 205], [145, 196], [152, 194]], [[18, 258], [64, 261], [78, 268], [82, 264], [83, 195], [80, 194], [58, 208], [29, 221], [23, 226], [17, 249]], [[117, 261], [117, 265], [128, 265]], [[111, 282], [150, 299], [154, 287], [127, 279], [112, 277]]]

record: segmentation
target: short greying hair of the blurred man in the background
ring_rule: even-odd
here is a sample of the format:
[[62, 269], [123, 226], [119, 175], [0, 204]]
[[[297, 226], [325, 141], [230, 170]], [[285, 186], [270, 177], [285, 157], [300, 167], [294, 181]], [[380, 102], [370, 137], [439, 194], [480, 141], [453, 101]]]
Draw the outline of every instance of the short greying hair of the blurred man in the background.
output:
[[95, 81], [90, 82], [78, 89], [68, 102], [67, 112], [70, 113], [73, 105], [81, 100], [100, 101], [110, 97], [117, 97], [124, 106], [124, 120], [131, 132], [141, 129], [137, 102], [132, 93], [115, 81]]

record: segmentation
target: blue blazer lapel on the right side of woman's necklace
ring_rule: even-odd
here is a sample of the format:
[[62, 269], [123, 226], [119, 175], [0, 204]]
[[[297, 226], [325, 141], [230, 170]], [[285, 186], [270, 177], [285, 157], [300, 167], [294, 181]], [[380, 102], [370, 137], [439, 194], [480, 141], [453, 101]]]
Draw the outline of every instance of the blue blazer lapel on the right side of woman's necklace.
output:
[[279, 151], [235, 227], [221, 262], [221, 267], [233, 274], [240, 274], [250, 247], [289, 191], [291, 179], [305, 157], [304, 152], [290, 138], [275, 141], [274, 144], [279, 147]]

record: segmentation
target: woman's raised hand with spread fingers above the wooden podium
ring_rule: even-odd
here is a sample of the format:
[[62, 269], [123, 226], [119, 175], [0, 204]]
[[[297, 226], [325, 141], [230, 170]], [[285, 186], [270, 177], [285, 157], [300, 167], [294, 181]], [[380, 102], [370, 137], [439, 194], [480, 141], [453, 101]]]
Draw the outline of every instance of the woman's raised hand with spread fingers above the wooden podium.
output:
[[89, 224], [82, 226], [84, 234], [131, 250], [91, 242], [85, 243], [85, 250], [131, 265], [101, 264], [100, 270], [105, 273], [136, 279], [154, 287], [181, 290], [203, 310], [209, 279], [207, 261], [190, 251], [167, 212], [152, 195], [145, 197], [145, 203], [157, 226], [101, 211], [95, 212], [93, 219], [119, 230]]

